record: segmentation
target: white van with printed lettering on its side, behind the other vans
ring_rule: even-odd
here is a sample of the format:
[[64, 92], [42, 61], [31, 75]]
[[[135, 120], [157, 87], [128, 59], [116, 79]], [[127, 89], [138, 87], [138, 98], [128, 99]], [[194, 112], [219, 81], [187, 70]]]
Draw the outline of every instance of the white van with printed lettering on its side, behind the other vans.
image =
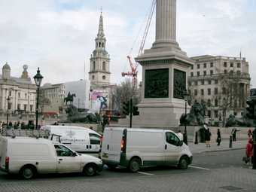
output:
[[41, 126], [41, 130], [47, 130], [50, 138], [53, 135], [59, 135], [55, 138], [56, 142], [67, 145], [72, 150], [79, 153], [98, 154], [100, 150], [101, 135], [94, 130], [81, 126]]

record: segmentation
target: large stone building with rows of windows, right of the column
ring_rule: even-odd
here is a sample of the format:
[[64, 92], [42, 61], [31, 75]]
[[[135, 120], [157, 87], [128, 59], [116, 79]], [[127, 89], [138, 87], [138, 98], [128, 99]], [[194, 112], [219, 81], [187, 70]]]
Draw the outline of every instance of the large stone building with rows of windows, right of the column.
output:
[[224, 120], [230, 114], [242, 116], [250, 89], [248, 62], [229, 56], [194, 56], [188, 78], [193, 102], [206, 106], [209, 120]]

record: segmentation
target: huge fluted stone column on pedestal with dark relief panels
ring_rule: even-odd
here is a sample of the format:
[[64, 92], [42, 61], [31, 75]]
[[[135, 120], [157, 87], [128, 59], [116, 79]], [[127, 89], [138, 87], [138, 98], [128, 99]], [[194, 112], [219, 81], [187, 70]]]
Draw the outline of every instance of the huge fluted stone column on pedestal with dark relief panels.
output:
[[178, 126], [193, 61], [176, 41], [176, 0], [157, 0], [156, 39], [136, 58], [142, 65], [142, 102], [134, 126]]

